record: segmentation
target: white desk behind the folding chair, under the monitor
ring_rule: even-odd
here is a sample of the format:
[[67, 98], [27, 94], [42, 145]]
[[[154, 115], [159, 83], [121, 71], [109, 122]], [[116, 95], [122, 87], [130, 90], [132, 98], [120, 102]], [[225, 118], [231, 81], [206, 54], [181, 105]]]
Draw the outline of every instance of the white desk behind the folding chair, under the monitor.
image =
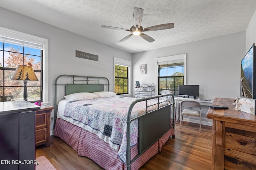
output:
[[[213, 100], [206, 101], [206, 100], [196, 100], [193, 98], [181, 98], [181, 97], [174, 98], [174, 100], [175, 100], [176, 121], [180, 120], [180, 102], [182, 102], [183, 100], [194, 100], [196, 102], [199, 102], [201, 104], [201, 106], [204, 106], [204, 107], [212, 105], [212, 102], [213, 102]], [[208, 108], [202, 109], [202, 113], [205, 113], [205, 114], [202, 114], [202, 125], [212, 125], [212, 120], [206, 118], [207, 111], [208, 111]], [[184, 121], [199, 123], [199, 120], [195, 120], [195, 119], [197, 119], [197, 117], [190, 119], [188, 116], [188, 119], [184, 119]]]

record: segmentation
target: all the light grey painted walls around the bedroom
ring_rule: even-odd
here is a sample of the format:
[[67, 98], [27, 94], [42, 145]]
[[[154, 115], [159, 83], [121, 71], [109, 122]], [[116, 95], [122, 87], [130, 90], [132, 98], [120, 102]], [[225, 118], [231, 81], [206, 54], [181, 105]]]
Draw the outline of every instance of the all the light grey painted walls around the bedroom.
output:
[[[110, 80], [110, 91], [113, 91], [113, 57], [119, 57], [133, 62], [132, 87], [136, 80], [140, 84], [156, 84], [155, 59], [183, 53], [187, 54], [187, 84], [200, 84], [200, 98], [235, 98], [240, 96], [240, 60], [256, 42], [255, 13], [246, 32], [134, 55], [4, 8], [0, 8], [0, 16], [4, 16], [0, 26], [49, 40], [48, 84], [52, 106], [54, 80], [60, 74], [104, 76]], [[76, 58], [75, 50], [98, 55], [99, 61]], [[147, 74], [139, 74], [140, 64], [147, 64]]]

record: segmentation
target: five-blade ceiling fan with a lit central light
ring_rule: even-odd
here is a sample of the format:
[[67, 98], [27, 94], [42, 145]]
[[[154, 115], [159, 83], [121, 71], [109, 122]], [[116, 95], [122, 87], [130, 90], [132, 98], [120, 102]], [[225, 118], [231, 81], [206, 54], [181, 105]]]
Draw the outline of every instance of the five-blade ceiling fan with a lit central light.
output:
[[154, 26], [147, 27], [147, 28], [143, 29], [143, 27], [140, 25], [142, 22], [142, 18], [143, 18], [143, 9], [142, 8], [134, 8], [134, 12], [133, 12], [134, 25], [132, 25], [132, 27], [130, 29], [112, 27], [112, 26], [106, 26], [106, 25], [101, 25], [101, 27], [109, 28], [109, 29], [122, 29], [122, 30], [129, 31], [132, 33], [132, 34], [127, 35], [126, 37], [124, 37], [123, 39], [121, 39], [118, 42], [125, 41], [126, 39], [132, 37], [132, 35], [140, 35], [140, 37], [142, 37], [143, 39], [145, 39], [146, 41], [148, 41], [150, 43], [152, 43], [155, 40], [152, 37], [144, 34], [143, 32], [174, 28], [174, 23], [165, 23], [165, 24], [154, 25]]

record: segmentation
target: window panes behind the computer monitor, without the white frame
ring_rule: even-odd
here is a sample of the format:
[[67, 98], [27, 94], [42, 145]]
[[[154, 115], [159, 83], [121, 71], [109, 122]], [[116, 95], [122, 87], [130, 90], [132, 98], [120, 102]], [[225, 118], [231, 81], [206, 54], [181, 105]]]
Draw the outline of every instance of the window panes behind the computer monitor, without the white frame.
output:
[[162, 90], [178, 94], [179, 85], [184, 84], [184, 63], [158, 65], [158, 75], [158, 94]]

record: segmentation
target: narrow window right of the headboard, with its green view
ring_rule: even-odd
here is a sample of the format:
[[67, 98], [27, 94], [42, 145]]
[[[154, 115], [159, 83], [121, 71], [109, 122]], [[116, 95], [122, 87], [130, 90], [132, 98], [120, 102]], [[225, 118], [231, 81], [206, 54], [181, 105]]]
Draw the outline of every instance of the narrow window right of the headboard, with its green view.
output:
[[130, 92], [131, 62], [114, 57], [114, 92], [118, 95]]

